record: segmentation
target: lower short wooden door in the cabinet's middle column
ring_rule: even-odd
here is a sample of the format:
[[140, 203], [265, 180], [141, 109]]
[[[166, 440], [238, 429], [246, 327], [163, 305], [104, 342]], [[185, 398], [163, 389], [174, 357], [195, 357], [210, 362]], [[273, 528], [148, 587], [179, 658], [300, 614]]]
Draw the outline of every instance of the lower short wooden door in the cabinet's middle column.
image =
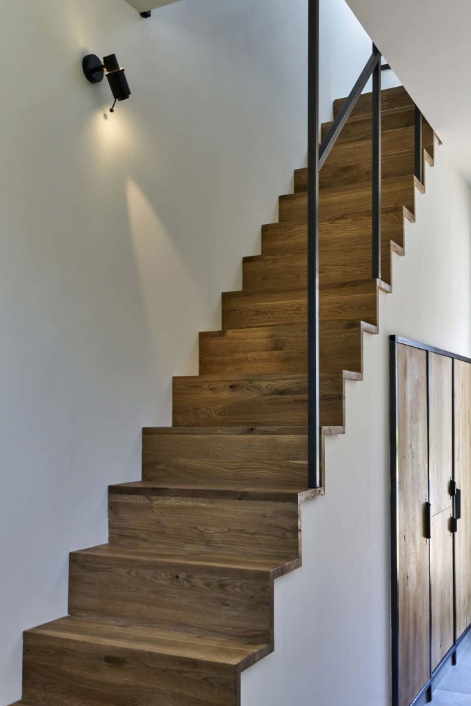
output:
[[453, 535], [452, 508], [431, 518], [431, 668], [453, 647]]

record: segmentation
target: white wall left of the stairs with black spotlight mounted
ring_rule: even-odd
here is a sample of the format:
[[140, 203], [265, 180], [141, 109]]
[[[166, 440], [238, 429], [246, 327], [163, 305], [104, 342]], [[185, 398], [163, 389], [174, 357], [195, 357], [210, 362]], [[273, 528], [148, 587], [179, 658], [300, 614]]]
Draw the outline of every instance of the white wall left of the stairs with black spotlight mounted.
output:
[[[107, 484], [138, 479], [141, 427], [169, 424], [172, 374], [196, 372], [198, 330], [304, 164], [306, 7], [0, 4], [0, 704], [21, 631], [66, 613], [68, 552], [107, 539]], [[340, 25], [326, 118], [369, 53], [326, 0], [323, 42]], [[88, 52], [126, 68], [112, 116]]]

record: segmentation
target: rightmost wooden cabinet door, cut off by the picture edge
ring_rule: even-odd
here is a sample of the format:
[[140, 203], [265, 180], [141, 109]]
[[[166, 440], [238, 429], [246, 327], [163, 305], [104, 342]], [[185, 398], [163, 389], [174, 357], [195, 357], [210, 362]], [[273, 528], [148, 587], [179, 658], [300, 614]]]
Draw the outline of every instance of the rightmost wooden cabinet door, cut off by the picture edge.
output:
[[471, 365], [455, 360], [455, 480], [461, 519], [455, 534], [456, 632], [471, 623]]

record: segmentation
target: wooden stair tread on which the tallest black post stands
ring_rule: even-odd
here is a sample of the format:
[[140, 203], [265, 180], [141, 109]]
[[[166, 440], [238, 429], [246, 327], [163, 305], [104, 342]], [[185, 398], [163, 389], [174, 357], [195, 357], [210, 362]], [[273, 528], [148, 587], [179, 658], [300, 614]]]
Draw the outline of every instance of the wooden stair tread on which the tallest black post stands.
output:
[[228, 498], [232, 500], [253, 500], [268, 502], [298, 502], [314, 498], [321, 489], [304, 488], [295, 490], [289, 486], [244, 486], [231, 487], [229, 484], [156, 484], [153, 481], [135, 481], [109, 486], [112, 494], [138, 494], [151, 496], [172, 496], [180, 498]]

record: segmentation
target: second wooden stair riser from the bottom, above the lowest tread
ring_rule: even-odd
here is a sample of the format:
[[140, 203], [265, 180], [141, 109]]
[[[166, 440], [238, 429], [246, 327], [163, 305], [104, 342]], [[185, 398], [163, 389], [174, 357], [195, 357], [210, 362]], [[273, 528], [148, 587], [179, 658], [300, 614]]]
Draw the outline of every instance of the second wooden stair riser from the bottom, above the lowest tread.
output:
[[72, 554], [71, 615], [270, 642], [268, 572]]

